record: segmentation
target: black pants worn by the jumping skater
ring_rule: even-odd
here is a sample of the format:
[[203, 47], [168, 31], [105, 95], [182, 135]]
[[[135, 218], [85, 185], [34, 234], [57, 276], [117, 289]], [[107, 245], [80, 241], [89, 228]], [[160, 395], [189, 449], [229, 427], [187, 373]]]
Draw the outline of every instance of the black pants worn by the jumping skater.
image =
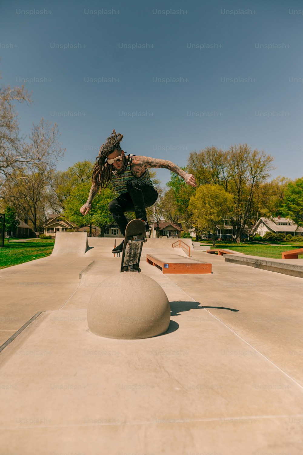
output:
[[135, 212], [136, 218], [144, 218], [146, 221], [145, 207], [151, 207], [158, 197], [158, 192], [151, 185], [146, 185], [136, 178], [128, 180], [126, 187], [127, 193], [121, 194], [108, 204], [109, 211], [123, 235], [128, 224], [124, 212]]

